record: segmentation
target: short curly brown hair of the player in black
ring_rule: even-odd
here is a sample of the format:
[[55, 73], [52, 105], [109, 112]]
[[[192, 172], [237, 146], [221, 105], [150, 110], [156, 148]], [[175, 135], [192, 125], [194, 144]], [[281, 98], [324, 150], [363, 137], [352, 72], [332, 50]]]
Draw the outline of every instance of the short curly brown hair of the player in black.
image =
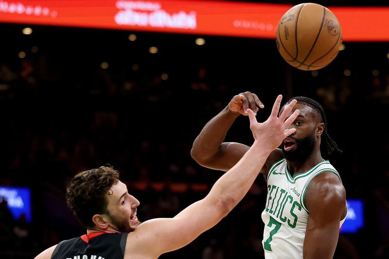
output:
[[111, 187], [118, 183], [119, 172], [110, 166], [77, 173], [66, 188], [66, 202], [77, 219], [86, 227], [95, 224], [95, 214], [109, 214], [106, 194], [112, 194]]

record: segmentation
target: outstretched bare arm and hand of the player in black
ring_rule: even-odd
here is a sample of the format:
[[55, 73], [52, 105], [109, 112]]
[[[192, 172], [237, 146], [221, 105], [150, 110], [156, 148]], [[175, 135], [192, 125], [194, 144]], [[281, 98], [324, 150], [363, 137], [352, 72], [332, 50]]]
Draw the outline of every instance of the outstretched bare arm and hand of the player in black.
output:
[[[217, 224], [238, 204], [252, 186], [267, 156], [295, 131], [288, 127], [296, 119], [299, 110], [289, 118], [287, 116], [296, 101], [292, 101], [278, 117], [281, 99], [281, 95], [277, 97], [270, 117], [263, 123], [258, 123], [255, 114], [248, 110], [250, 129], [255, 140], [242, 159], [216, 181], [204, 199], [185, 208], [173, 219], [154, 219], [139, 225], [130, 234], [136, 235], [137, 242], [133, 241], [134, 236], [127, 239], [130, 254], [134, 255], [137, 251], [139, 254], [152, 253], [151, 256], [158, 257], [177, 250]], [[153, 244], [152, 247], [149, 244]]]

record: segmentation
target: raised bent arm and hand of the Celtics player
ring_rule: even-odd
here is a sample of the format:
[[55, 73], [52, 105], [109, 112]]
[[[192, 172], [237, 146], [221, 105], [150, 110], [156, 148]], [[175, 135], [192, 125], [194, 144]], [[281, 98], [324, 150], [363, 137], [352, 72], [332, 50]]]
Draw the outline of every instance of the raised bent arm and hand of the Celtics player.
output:
[[223, 143], [232, 123], [240, 115], [248, 115], [249, 108], [255, 113], [264, 105], [257, 95], [244, 92], [235, 95], [230, 103], [209, 121], [193, 143], [191, 155], [197, 163], [215, 170], [228, 171], [248, 151], [248, 146], [229, 142]]

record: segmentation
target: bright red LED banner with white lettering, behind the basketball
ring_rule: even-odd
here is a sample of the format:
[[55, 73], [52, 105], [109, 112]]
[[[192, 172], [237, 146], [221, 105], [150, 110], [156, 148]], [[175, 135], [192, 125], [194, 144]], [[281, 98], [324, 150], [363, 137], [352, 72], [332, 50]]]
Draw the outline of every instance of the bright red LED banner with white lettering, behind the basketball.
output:
[[[291, 7], [205, 0], [0, 0], [0, 22], [275, 38]], [[343, 41], [389, 41], [389, 7], [326, 7], [338, 18]]]

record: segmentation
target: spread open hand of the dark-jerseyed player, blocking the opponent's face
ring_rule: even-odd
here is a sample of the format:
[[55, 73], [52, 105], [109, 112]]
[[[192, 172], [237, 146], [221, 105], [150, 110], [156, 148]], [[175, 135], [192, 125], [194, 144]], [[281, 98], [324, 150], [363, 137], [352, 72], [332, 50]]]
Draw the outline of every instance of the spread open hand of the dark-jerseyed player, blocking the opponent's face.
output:
[[282, 99], [282, 95], [277, 97], [269, 118], [262, 123], [257, 121], [255, 113], [251, 109], [247, 110], [250, 119], [250, 129], [255, 139], [254, 144], [258, 142], [261, 147], [274, 150], [281, 145], [284, 138], [296, 131], [295, 128], [289, 129], [289, 126], [296, 120], [300, 113], [299, 110], [295, 110], [293, 114], [290, 115], [297, 101], [293, 100], [290, 102], [280, 114], [280, 117], [278, 117]]

